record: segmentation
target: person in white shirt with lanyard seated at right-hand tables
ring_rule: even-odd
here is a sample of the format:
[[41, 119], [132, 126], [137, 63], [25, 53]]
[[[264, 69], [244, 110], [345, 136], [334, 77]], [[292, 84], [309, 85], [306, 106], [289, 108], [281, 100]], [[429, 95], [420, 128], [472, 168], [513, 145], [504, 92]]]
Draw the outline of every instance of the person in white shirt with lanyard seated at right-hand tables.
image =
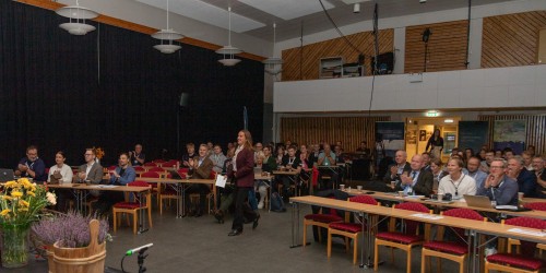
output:
[[440, 180], [438, 194], [451, 193], [453, 199], [461, 199], [464, 194], [476, 194], [476, 181], [470, 175], [463, 174], [463, 162], [461, 159], [449, 159], [448, 173], [449, 175]]

